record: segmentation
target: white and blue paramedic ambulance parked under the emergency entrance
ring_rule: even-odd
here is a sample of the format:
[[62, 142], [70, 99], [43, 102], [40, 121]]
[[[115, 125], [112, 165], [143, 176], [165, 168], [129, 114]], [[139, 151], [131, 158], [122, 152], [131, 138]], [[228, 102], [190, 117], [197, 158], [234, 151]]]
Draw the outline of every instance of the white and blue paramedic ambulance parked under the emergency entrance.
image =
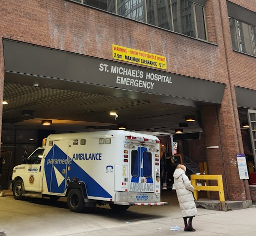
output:
[[159, 143], [123, 130], [51, 134], [13, 168], [13, 197], [67, 197], [72, 212], [105, 204], [113, 210], [167, 205], [160, 202]]

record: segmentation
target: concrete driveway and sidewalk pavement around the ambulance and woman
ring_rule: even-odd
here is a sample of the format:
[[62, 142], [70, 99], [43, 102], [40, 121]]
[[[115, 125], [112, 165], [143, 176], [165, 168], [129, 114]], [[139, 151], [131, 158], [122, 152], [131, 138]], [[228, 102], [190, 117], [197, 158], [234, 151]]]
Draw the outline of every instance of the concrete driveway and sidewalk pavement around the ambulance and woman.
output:
[[[66, 199], [16, 201], [10, 192], [0, 198], [0, 232], [7, 236], [254, 236], [256, 208], [213, 211], [197, 208], [195, 232], [184, 232], [176, 193], [164, 191], [168, 206], [136, 206], [113, 213], [108, 206], [72, 213]], [[2, 235], [0, 235], [2, 236]], [[3, 235], [5, 236], [5, 235]]]

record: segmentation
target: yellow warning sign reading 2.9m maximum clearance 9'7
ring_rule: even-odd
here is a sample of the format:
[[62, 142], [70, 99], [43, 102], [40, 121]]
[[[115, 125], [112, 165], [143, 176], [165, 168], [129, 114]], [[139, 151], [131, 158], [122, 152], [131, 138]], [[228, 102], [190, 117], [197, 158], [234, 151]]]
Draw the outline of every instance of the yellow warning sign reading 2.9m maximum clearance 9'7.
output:
[[129, 61], [140, 65], [147, 65], [159, 69], [167, 69], [166, 57], [138, 51], [135, 49], [112, 45], [112, 57], [116, 60]]

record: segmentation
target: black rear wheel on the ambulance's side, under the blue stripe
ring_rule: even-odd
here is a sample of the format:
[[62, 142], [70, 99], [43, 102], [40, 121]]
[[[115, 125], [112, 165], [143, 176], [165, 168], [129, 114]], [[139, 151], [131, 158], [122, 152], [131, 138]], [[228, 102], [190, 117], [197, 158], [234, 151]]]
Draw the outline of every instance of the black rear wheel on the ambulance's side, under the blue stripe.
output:
[[84, 200], [79, 189], [71, 189], [67, 195], [67, 206], [71, 212], [81, 213], [84, 210]]

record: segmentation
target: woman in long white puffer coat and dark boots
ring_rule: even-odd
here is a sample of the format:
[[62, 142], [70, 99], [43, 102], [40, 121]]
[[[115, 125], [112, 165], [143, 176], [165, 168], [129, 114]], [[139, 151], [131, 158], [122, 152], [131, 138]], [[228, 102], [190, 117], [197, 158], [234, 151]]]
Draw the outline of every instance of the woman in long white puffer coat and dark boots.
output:
[[[185, 166], [180, 164], [177, 165], [173, 174], [174, 186], [178, 197], [179, 207], [181, 209], [181, 215], [184, 219], [184, 231], [195, 231], [192, 227], [192, 219], [197, 214], [194, 197], [192, 194], [194, 187], [191, 185], [190, 180], [185, 175], [185, 171]], [[187, 218], [189, 218], [188, 224]]]

